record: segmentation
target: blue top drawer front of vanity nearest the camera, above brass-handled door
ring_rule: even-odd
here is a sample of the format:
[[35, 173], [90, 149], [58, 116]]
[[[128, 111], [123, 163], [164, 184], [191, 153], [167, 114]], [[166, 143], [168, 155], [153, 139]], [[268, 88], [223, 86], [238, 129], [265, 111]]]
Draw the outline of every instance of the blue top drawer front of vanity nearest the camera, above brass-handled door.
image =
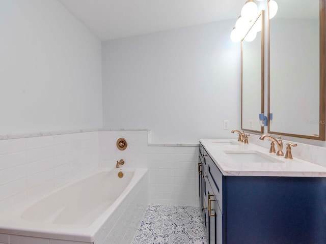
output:
[[223, 200], [225, 199], [225, 177], [210, 157], [207, 157], [206, 162], [208, 181], [210, 182], [210, 186], [220, 210], [222, 214], [225, 215], [225, 202]]

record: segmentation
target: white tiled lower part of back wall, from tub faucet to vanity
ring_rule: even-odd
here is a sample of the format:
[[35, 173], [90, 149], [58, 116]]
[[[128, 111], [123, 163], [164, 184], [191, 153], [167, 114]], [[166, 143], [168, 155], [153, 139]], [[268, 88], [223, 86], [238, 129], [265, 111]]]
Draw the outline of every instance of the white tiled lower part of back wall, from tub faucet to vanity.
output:
[[[103, 129], [99, 136], [99, 165], [149, 169], [151, 204], [199, 206], [196, 165], [197, 144], [149, 144], [148, 130]], [[120, 151], [117, 139], [123, 137], [128, 147]]]

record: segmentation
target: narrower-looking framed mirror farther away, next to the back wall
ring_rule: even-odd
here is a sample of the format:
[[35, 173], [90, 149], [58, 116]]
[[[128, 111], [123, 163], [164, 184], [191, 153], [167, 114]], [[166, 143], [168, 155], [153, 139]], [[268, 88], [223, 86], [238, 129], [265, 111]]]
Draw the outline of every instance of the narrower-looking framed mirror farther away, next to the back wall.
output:
[[[264, 112], [264, 12], [254, 21], [241, 41], [241, 129], [263, 133], [259, 114]], [[253, 41], [246, 41], [252, 31], [261, 29]]]

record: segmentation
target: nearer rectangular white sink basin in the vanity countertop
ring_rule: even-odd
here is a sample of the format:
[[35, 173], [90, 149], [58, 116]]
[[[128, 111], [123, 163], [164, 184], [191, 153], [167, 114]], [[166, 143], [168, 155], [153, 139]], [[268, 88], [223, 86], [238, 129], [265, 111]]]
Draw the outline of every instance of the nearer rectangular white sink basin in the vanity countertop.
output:
[[262, 154], [259, 151], [224, 151], [231, 159], [238, 163], [281, 163], [282, 161]]

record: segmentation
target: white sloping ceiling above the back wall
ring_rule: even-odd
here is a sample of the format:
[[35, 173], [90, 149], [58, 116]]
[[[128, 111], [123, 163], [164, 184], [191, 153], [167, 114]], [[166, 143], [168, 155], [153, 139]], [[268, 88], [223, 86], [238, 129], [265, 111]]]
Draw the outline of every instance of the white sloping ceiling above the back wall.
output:
[[246, 3], [246, 0], [58, 1], [102, 41], [236, 19]]

